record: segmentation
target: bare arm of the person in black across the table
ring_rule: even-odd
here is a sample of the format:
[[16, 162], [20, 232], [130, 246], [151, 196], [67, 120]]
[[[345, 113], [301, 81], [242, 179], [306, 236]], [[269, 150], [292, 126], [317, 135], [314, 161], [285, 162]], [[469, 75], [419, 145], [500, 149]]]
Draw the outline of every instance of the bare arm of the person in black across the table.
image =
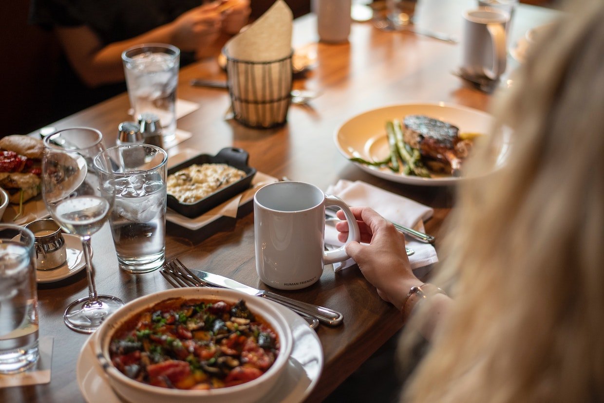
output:
[[193, 8], [175, 21], [139, 36], [103, 46], [91, 28], [57, 27], [57, 37], [65, 54], [82, 81], [89, 87], [117, 83], [124, 80], [121, 53], [140, 43], [171, 43], [181, 51], [194, 51], [210, 46], [220, 33], [220, 14], [217, 4]]

